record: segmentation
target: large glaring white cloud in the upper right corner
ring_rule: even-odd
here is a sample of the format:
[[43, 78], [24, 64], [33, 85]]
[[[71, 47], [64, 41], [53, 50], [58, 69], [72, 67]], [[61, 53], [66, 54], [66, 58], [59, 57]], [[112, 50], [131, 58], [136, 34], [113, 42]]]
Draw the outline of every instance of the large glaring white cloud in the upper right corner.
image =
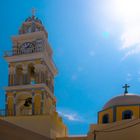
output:
[[114, 14], [122, 23], [120, 49], [125, 53], [124, 60], [140, 53], [140, 0], [116, 0], [113, 3]]

